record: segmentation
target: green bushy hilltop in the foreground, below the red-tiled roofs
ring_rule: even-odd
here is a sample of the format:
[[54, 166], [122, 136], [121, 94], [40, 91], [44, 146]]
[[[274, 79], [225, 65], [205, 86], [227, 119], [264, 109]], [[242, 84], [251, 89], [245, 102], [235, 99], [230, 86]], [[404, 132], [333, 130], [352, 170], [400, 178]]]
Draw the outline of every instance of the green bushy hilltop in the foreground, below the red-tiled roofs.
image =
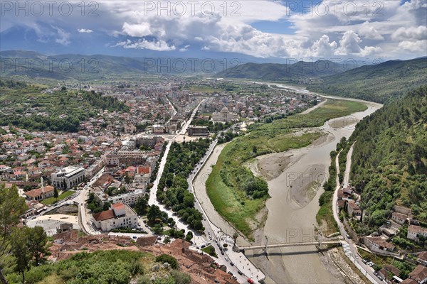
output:
[[[159, 271], [155, 280], [147, 275], [156, 262], [170, 262], [172, 270]], [[169, 255], [155, 258], [139, 251], [95, 251], [76, 253], [71, 258], [56, 263], [31, 267], [26, 271], [26, 283], [46, 284], [128, 284], [128, 283], [191, 283], [189, 275], [177, 270], [176, 259]], [[17, 273], [6, 273], [9, 283], [21, 283]], [[131, 282], [131, 280], [133, 282]]]

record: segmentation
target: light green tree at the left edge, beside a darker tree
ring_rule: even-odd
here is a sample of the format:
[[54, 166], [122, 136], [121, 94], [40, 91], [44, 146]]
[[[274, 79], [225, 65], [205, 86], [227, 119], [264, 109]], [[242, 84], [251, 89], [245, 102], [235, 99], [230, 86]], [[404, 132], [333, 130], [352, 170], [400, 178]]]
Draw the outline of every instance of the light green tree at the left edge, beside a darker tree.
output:
[[[20, 197], [16, 186], [5, 188], [0, 185], [0, 258], [9, 253], [12, 228], [19, 223], [19, 217], [26, 211], [27, 206]], [[7, 284], [3, 275], [3, 262], [0, 261], [0, 281]]]

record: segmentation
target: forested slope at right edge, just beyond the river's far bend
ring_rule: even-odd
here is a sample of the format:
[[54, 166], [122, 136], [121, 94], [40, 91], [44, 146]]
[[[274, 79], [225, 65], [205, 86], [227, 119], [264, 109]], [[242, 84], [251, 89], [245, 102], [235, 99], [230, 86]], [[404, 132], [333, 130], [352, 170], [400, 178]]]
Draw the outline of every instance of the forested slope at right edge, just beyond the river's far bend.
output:
[[386, 102], [427, 84], [427, 58], [391, 60], [322, 77], [307, 88], [339, 97]]

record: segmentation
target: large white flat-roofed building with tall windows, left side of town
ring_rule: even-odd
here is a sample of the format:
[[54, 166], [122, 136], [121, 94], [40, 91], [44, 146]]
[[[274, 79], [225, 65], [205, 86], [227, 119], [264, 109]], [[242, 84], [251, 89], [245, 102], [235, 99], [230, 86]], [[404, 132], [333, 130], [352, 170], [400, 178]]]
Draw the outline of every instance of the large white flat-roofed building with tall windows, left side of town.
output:
[[70, 165], [51, 175], [52, 185], [61, 190], [69, 190], [85, 180], [85, 169]]

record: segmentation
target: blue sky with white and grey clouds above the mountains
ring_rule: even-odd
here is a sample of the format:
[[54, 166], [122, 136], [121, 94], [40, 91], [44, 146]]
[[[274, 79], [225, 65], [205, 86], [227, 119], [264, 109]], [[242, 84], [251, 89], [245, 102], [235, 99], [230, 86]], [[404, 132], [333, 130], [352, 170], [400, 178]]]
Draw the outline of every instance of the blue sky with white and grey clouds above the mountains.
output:
[[427, 56], [427, 0], [0, 4], [0, 50], [297, 60]]

